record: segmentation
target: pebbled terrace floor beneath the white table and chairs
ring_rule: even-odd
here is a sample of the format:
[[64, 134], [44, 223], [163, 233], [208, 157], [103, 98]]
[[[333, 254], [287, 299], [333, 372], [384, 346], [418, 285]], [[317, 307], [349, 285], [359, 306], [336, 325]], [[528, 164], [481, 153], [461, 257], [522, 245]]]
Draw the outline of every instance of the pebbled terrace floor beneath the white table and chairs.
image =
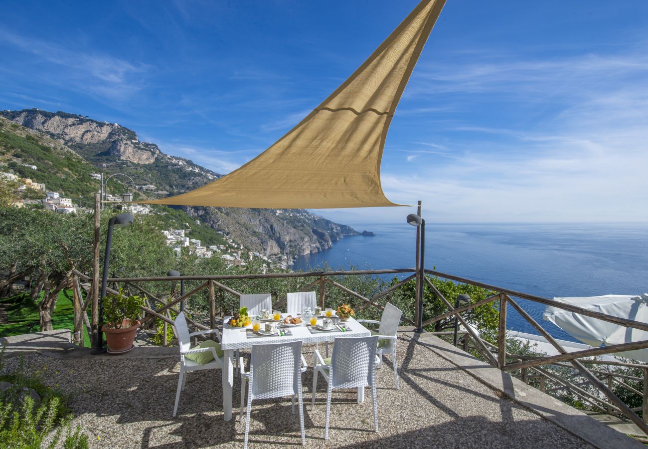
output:
[[[71, 396], [73, 424], [90, 436], [91, 447], [242, 447], [243, 422], [223, 421], [220, 370], [189, 374], [178, 417], [171, 417], [179, 370], [177, 348], [89, 356], [87, 349], [60, 342], [45, 342], [38, 350], [36, 342], [32, 348], [36, 351], [23, 357], [25, 366]], [[17, 343], [16, 348], [27, 348], [24, 339]], [[625, 435], [432, 335], [402, 332], [397, 348], [400, 389], [394, 389], [390, 357], [377, 372], [378, 433], [373, 431], [371, 394], [364, 404], [357, 404], [353, 391], [338, 391], [331, 405], [330, 439], [325, 441], [325, 382], [320, 378], [312, 411], [312, 368], [303, 375], [308, 447], [639, 447]], [[312, 347], [305, 346], [304, 351]], [[307, 360], [312, 363], [312, 354], [307, 354]], [[18, 363], [19, 358], [8, 357], [5, 369]], [[466, 366], [459, 368], [457, 363]], [[239, 393], [240, 378], [235, 378], [235, 406]], [[290, 413], [289, 398], [253, 403], [249, 444], [251, 448], [301, 446], [299, 420]]]

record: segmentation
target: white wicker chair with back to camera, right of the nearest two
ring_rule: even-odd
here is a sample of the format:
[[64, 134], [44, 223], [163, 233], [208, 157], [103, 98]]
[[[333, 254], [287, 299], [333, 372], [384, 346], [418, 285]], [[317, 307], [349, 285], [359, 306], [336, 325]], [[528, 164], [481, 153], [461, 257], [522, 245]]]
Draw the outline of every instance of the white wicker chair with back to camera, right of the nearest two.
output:
[[313, 372], [312, 407], [315, 408], [315, 392], [318, 386], [318, 374], [329, 383], [326, 398], [326, 425], [324, 439], [329, 439], [330, 399], [334, 388], [371, 387], [373, 402], [373, 425], [378, 431], [378, 402], [376, 402], [376, 346], [378, 336], [336, 338], [333, 343], [333, 354], [326, 363], [319, 351], [315, 351]]

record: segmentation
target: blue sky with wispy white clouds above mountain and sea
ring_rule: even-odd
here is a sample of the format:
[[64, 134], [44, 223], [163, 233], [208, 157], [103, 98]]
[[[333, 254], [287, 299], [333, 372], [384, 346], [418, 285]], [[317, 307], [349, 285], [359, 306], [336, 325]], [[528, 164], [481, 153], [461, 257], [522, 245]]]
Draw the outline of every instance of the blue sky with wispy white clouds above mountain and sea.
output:
[[[227, 173], [308, 114], [416, 4], [7, 1], [0, 108], [121, 123]], [[448, 0], [391, 125], [389, 199], [421, 199], [428, 221], [645, 221], [646, 29], [643, 0]]]

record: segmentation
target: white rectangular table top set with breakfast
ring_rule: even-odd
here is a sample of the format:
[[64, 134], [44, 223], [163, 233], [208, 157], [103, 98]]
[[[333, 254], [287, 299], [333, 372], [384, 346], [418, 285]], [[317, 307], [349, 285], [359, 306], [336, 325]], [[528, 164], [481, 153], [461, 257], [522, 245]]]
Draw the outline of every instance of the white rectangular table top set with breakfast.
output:
[[[282, 313], [282, 318], [286, 313]], [[330, 330], [328, 332], [318, 332], [311, 334], [305, 323], [302, 326], [292, 326], [290, 329], [292, 335], [271, 335], [270, 337], [255, 337], [248, 338], [246, 332], [251, 326], [245, 328], [233, 328], [226, 324], [231, 317], [225, 317], [223, 324], [223, 335], [221, 337], [220, 347], [224, 350], [228, 349], [244, 349], [251, 348], [252, 345], [263, 345], [267, 343], [281, 343], [282, 341], [297, 341], [301, 340], [303, 343], [322, 343], [325, 341], [333, 341], [336, 338], [348, 337], [369, 337], [371, 332], [367, 330], [362, 324], [353, 318], [345, 323], [352, 332], [340, 332], [339, 330]], [[321, 319], [320, 319], [321, 322]]]

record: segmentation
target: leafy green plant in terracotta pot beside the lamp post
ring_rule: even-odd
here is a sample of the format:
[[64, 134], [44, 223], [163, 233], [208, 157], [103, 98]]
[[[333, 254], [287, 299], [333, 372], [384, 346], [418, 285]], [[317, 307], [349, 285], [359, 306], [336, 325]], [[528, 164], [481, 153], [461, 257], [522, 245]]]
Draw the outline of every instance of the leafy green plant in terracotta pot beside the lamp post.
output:
[[101, 326], [101, 330], [106, 334], [110, 354], [123, 354], [133, 348], [140, 324], [137, 316], [143, 304], [144, 298], [128, 295], [124, 289], [119, 289], [119, 295], [110, 293], [104, 297], [106, 324]]

